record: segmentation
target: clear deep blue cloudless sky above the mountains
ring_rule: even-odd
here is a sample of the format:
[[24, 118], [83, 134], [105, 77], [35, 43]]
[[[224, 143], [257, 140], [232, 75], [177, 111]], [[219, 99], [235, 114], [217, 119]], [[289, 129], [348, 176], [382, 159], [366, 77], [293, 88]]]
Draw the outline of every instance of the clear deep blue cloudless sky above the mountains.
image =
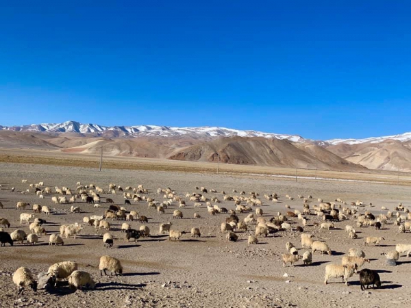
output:
[[410, 16], [410, 1], [1, 1], [0, 125], [411, 131]]

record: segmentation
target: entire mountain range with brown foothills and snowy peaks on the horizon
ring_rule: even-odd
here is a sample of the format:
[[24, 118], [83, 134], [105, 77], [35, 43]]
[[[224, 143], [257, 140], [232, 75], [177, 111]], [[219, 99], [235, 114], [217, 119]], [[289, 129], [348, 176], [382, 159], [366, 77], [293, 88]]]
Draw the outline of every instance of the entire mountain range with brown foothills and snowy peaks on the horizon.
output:
[[0, 147], [325, 170], [411, 171], [411, 133], [365, 139], [310, 140], [225, 127], [113, 126], [67, 121], [6, 127]]

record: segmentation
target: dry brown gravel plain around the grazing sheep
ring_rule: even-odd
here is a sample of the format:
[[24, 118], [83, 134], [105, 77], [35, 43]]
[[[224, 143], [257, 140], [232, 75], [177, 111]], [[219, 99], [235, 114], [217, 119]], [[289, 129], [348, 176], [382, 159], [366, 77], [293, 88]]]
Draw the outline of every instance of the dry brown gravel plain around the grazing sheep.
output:
[[[22, 212], [32, 212], [32, 209], [16, 210], [16, 202], [26, 201], [31, 205], [38, 203], [48, 205], [53, 209], [50, 216], [36, 214], [47, 220], [45, 228], [49, 233], [58, 232], [61, 224], [82, 222], [84, 216], [104, 214], [108, 205], [102, 203], [101, 208], [94, 208], [86, 203], [75, 203], [82, 209], [80, 214], [70, 214], [71, 205], [54, 205], [51, 196], [46, 195], [40, 200], [33, 191], [21, 194], [28, 188], [21, 179], [28, 183], [44, 181], [45, 186], [67, 186], [75, 190], [77, 181], [82, 184], [95, 183], [108, 190], [109, 183], [116, 183], [123, 188], [127, 185], [136, 187], [139, 184], [149, 189], [148, 196], [162, 201], [158, 188], [170, 187], [179, 196], [186, 192], [195, 192], [195, 186], [204, 186], [218, 192], [225, 190], [234, 195], [238, 192], [258, 192], [264, 194], [276, 192], [281, 203], [271, 203], [262, 198], [264, 217], [268, 220], [276, 216], [278, 211], [285, 212], [288, 204], [291, 210], [302, 209], [301, 199], [288, 201], [286, 194], [297, 197], [312, 194], [311, 206], [318, 204], [317, 198], [333, 201], [342, 198], [351, 201], [362, 200], [373, 214], [381, 213], [381, 206], [393, 209], [397, 203], [406, 206], [410, 192], [409, 188], [376, 183], [350, 183], [333, 181], [288, 179], [264, 179], [253, 177], [236, 177], [228, 175], [202, 175], [184, 172], [160, 172], [138, 170], [103, 170], [95, 169], [41, 166], [29, 164], [0, 164], [0, 201], [4, 208], [0, 209], [1, 217], [11, 222], [10, 229], [23, 229], [29, 232], [27, 225], [20, 224]], [[15, 187], [14, 192], [11, 188]], [[223, 200], [223, 195], [217, 196]], [[122, 194], [103, 194], [103, 198], [113, 198], [118, 205], [123, 205]], [[348, 239], [345, 225], [356, 223], [353, 220], [337, 222], [335, 230], [319, 230], [312, 223], [319, 221], [316, 216], [309, 216], [305, 231], [314, 234], [316, 239], [325, 240], [333, 251], [333, 255], [314, 255], [312, 266], [303, 266], [299, 261], [295, 268], [283, 268], [281, 254], [286, 252], [286, 242], [292, 242], [301, 248], [300, 233], [297, 231], [270, 234], [260, 238], [258, 245], [247, 246], [247, 238], [252, 234], [256, 224], [251, 224], [251, 231], [237, 233], [238, 242], [227, 242], [225, 234], [220, 233], [220, 224], [225, 221], [227, 214], [210, 216], [206, 205], [193, 208], [192, 202], [182, 210], [184, 218], [173, 220], [173, 210], [178, 205], [173, 203], [166, 209], [164, 215], [147, 208], [147, 203], [134, 203], [127, 209], [136, 210], [140, 215], [149, 217], [147, 226], [151, 236], [139, 239], [136, 243], [125, 242], [124, 233], [120, 227], [122, 221], [112, 223], [114, 248], [103, 246], [102, 232], [97, 233], [93, 227], [85, 226], [81, 235], [76, 239], [64, 239], [64, 246], [48, 246], [48, 235], [40, 238], [36, 246], [15, 244], [13, 247], [0, 248], [0, 307], [407, 307], [411, 305], [409, 294], [409, 277], [411, 259], [401, 257], [398, 266], [386, 266], [385, 258], [380, 255], [395, 249], [399, 242], [411, 242], [409, 233], [398, 233], [395, 225], [387, 224], [382, 230], [372, 227], [358, 229], [358, 239]], [[234, 209], [232, 201], [222, 202], [220, 207]], [[363, 209], [361, 209], [363, 211]], [[194, 219], [197, 212], [201, 218]], [[238, 214], [240, 220], [247, 214]], [[167, 235], [158, 234], [158, 226], [162, 222], [173, 222], [173, 229], [186, 231], [181, 242], [170, 242]], [[131, 222], [132, 228], [138, 229], [139, 222]], [[294, 219], [295, 229], [299, 222]], [[300, 224], [301, 225], [301, 224]], [[201, 238], [191, 238], [189, 231], [199, 227]], [[356, 228], [357, 229], [357, 228]], [[380, 247], [364, 246], [364, 238], [369, 235], [383, 236]], [[347, 287], [340, 279], [331, 279], [324, 285], [325, 266], [330, 263], [340, 264], [341, 257], [351, 247], [360, 247], [371, 259], [364, 268], [379, 270], [383, 286], [379, 290], [361, 291], [358, 275], [354, 274]], [[300, 254], [305, 250], [301, 249]], [[122, 277], [101, 277], [99, 274], [99, 257], [111, 255], [121, 260], [124, 267]], [[79, 269], [92, 274], [97, 282], [95, 290], [86, 292], [69, 292], [62, 288], [55, 294], [46, 294], [44, 290], [34, 293], [25, 290], [23, 296], [17, 296], [18, 288], [12, 283], [12, 273], [20, 266], [26, 266], [35, 274], [47, 270], [58, 261], [74, 260]], [[287, 274], [288, 277], [284, 277]], [[400, 306], [401, 305], [401, 306]]]

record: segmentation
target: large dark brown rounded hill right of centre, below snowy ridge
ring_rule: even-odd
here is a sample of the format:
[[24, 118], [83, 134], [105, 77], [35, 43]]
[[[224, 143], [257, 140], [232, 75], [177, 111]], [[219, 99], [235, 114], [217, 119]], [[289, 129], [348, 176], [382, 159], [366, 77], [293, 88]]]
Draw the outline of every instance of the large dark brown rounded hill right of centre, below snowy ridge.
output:
[[259, 166], [319, 168], [324, 170], [364, 170], [315, 144], [297, 144], [288, 140], [232, 137], [201, 142], [174, 151], [169, 159], [250, 164]]

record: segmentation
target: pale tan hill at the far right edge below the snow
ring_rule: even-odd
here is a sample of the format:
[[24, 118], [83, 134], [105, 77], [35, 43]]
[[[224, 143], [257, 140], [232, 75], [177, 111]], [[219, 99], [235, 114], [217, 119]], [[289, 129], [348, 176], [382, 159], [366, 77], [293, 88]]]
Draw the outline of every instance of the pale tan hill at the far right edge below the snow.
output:
[[337, 144], [327, 150], [366, 168], [411, 171], [411, 142], [385, 140], [379, 143]]

